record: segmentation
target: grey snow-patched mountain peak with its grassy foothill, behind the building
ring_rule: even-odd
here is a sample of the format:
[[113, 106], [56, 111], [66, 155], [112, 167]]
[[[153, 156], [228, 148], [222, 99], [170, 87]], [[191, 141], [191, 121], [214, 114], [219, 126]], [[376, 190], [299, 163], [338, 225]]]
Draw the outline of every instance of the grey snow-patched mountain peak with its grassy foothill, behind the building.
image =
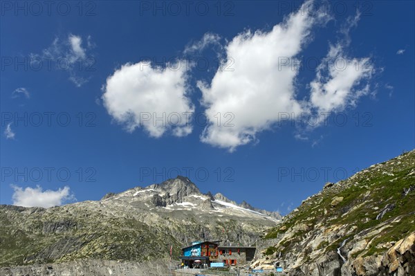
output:
[[194, 240], [252, 245], [279, 223], [278, 214], [243, 206], [183, 176], [100, 201], [0, 205], [0, 275], [163, 275], [170, 246], [177, 259]]

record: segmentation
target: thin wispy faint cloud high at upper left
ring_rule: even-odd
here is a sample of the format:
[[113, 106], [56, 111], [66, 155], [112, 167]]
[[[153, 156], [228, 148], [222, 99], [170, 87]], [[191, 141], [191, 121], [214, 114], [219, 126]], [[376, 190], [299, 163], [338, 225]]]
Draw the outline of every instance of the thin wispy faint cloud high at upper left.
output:
[[80, 75], [79, 71], [92, 71], [94, 59], [88, 50], [95, 47], [91, 42], [91, 36], [86, 38], [86, 43], [80, 35], [69, 34], [64, 39], [56, 37], [52, 44], [42, 50], [41, 54], [31, 53], [31, 62], [54, 62], [55, 68], [69, 73], [68, 80], [80, 87], [88, 82], [87, 77]]

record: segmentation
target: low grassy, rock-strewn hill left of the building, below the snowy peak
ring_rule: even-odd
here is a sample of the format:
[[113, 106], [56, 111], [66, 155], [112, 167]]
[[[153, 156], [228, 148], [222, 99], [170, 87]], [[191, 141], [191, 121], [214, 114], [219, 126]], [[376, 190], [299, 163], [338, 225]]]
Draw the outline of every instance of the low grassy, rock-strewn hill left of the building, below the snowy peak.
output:
[[[0, 206], [0, 221], [0, 266], [82, 258], [142, 261], [167, 257], [170, 245], [174, 257], [180, 254], [181, 244], [166, 232], [139, 221], [100, 217], [93, 212], [84, 212], [84, 216], [64, 212], [28, 214]], [[44, 232], [45, 224], [61, 221], [72, 221], [75, 226]], [[53, 248], [61, 252], [50, 259]]]

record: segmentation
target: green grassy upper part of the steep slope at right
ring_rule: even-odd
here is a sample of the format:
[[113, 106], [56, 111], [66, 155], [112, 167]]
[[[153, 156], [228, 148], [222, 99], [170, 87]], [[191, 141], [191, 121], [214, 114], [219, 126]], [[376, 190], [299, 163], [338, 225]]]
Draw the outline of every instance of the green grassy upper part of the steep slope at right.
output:
[[[324, 189], [320, 194], [305, 201], [291, 218], [273, 228], [265, 238], [273, 239], [278, 235], [281, 237], [297, 223], [305, 223], [312, 231], [315, 230], [315, 226], [318, 228], [320, 225], [349, 226], [351, 234], [331, 243], [324, 241], [320, 244], [319, 248], [329, 251], [335, 250], [344, 239], [375, 228], [380, 223], [391, 221], [392, 227], [385, 228], [373, 237], [365, 256], [384, 252], [385, 249], [378, 248], [378, 245], [387, 241], [398, 241], [415, 231], [415, 190], [403, 196], [404, 189], [411, 185], [415, 185], [415, 151], [371, 166], [345, 181], [336, 183], [332, 188]], [[332, 207], [331, 201], [335, 196], [344, 199]], [[377, 220], [376, 216], [387, 204], [395, 204], [395, 208]], [[396, 221], [397, 217], [400, 220]], [[298, 230], [291, 239], [283, 239], [279, 243], [279, 248], [271, 246], [267, 254], [271, 255], [277, 250], [290, 252], [297, 242], [302, 241], [304, 232], [306, 231]], [[355, 256], [359, 253], [356, 252]]]

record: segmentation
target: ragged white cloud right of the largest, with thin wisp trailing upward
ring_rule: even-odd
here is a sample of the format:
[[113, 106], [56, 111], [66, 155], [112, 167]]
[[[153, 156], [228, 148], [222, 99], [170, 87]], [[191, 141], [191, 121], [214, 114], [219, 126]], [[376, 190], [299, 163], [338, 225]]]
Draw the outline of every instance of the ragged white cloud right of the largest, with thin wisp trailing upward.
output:
[[369, 93], [368, 81], [374, 74], [369, 57], [349, 57], [346, 48], [351, 43], [349, 32], [356, 27], [360, 14], [349, 17], [343, 26], [344, 39], [329, 46], [329, 53], [317, 68], [311, 86], [311, 105], [319, 113], [342, 111], [347, 106], [356, 106], [362, 95]]

